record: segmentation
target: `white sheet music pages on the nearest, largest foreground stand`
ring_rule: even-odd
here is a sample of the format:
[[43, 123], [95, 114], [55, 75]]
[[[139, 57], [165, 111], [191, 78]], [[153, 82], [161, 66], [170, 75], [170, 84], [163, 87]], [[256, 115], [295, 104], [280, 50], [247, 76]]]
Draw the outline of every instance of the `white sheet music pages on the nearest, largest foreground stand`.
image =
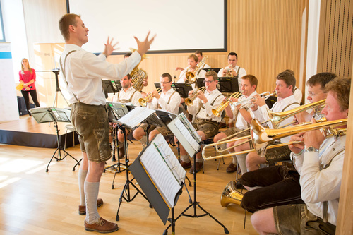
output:
[[[157, 148], [155, 147], [155, 145], [157, 146], [160, 145], [158, 146], [158, 148], [162, 150], [164, 145], [161, 144], [162, 140], [158, 137], [158, 135], [156, 138], [155, 138], [156, 141], [153, 140], [152, 143], [150, 143], [150, 145], [148, 145], [148, 147], [145, 148], [143, 155], [141, 155], [140, 157], [140, 162], [141, 164], [143, 164], [143, 167], [148, 172], [148, 175], [152, 179], [153, 183], [155, 183], [157, 190], [160, 192], [160, 194], [164, 198], [167, 205], [170, 208], [172, 208], [174, 207], [174, 200], [176, 198], [177, 193], [181, 189], [181, 185], [179, 184], [179, 181], [174, 176], [174, 173], [172, 173], [168, 164], [169, 163], [172, 164], [171, 163], [173, 161], [172, 157], [174, 157], [175, 159], [177, 159], [177, 157], [175, 157], [174, 154], [173, 154], [174, 156], [170, 155], [169, 157], [167, 157], [168, 159], [170, 158], [170, 161], [168, 160], [169, 163], [166, 164], [167, 161], [164, 161], [164, 158], [161, 157], [160, 152], [158, 152]], [[153, 143], [155, 143], [155, 145]], [[170, 150], [170, 147], [167, 146], [163, 148], [162, 152], [169, 154], [170, 152], [168, 152], [167, 150], [168, 148]], [[178, 164], [181, 167], [179, 162], [177, 162], [177, 164], [175, 166], [173, 165], [172, 167], [177, 168]], [[186, 171], [184, 170], [184, 176], [185, 174], [186, 174]], [[184, 181], [184, 178], [182, 180]]]

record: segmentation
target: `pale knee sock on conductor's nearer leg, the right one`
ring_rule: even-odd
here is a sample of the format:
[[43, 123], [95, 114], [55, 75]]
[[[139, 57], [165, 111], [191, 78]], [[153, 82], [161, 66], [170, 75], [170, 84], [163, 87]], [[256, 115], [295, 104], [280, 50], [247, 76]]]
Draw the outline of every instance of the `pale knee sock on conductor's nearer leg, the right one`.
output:
[[100, 191], [100, 182], [85, 181], [85, 195], [86, 195], [86, 222], [93, 224], [98, 222], [100, 215], [97, 210], [97, 198]]

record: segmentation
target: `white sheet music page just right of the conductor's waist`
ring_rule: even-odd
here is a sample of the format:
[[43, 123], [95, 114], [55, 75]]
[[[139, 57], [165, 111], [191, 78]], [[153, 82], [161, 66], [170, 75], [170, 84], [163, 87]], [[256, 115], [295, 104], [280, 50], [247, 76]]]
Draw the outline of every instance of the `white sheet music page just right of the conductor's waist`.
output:
[[128, 128], [134, 128], [139, 123], [145, 121], [151, 114], [153, 114], [155, 110], [148, 109], [145, 107], [136, 107], [135, 109], [131, 110], [125, 116], [121, 117], [118, 120], [118, 123], [124, 124]]

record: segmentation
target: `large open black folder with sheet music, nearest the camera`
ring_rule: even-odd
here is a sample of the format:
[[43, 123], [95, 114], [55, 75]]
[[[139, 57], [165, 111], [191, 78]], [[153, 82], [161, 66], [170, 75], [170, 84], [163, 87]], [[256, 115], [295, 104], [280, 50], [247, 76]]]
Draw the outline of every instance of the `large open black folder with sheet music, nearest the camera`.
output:
[[186, 171], [161, 134], [155, 136], [129, 167], [143, 192], [166, 224], [169, 211], [177, 205]]

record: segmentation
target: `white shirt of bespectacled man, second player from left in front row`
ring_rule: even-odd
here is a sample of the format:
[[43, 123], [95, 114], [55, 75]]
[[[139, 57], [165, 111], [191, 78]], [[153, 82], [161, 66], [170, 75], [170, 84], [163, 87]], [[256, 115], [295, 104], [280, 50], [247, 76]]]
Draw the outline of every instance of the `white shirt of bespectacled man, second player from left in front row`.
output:
[[179, 93], [176, 92], [173, 88], [170, 88], [165, 93], [163, 91], [160, 92], [160, 99], [157, 100], [156, 97], [153, 97], [152, 102], [147, 103], [147, 107], [148, 109], [158, 109], [158, 104], [160, 104], [162, 110], [171, 112], [173, 114], [178, 114], [180, 101], [181, 97]]

